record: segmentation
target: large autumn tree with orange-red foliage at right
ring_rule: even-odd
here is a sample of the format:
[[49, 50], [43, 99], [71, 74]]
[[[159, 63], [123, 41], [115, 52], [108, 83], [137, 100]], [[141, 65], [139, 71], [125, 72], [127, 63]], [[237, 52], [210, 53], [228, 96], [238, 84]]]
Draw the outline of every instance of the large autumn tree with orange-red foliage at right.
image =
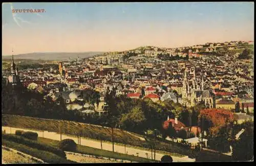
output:
[[[234, 120], [233, 113], [226, 109], [209, 108], [200, 110], [198, 122], [203, 130], [215, 135], [219, 129]], [[203, 123], [202, 123], [203, 122]]]

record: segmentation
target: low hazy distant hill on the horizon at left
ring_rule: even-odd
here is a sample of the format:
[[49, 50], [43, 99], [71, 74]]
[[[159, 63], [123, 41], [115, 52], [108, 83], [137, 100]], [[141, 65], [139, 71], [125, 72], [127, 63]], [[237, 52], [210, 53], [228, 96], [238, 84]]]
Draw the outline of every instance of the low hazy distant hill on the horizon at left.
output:
[[[89, 58], [103, 52], [33, 52], [14, 55], [14, 59], [31, 59], [31, 60], [69, 60], [80, 58]], [[2, 59], [11, 59], [12, 56], [2, 56]]]

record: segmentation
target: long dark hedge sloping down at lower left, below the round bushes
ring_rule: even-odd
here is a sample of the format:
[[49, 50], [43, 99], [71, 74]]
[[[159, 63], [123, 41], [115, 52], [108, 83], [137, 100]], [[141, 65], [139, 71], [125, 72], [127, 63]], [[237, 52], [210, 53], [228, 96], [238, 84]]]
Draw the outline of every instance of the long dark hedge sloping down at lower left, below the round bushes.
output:
[[18, 144], [24, 144], [31, 148], [36, 148], [38, 150], [49, 151], [49, 152], [54, 153], [62, 158], [66, 158], [66, 153], [63, 152], [61, 149], [54, 147], [54, 146], [38, 143], [36, 141], [25, 139], [24, 137], [18, 136], [18, 135], [3, 134], [2, 137], [3, 137], [3, 139], [6, 139], [9, 141], [18, 143]]

